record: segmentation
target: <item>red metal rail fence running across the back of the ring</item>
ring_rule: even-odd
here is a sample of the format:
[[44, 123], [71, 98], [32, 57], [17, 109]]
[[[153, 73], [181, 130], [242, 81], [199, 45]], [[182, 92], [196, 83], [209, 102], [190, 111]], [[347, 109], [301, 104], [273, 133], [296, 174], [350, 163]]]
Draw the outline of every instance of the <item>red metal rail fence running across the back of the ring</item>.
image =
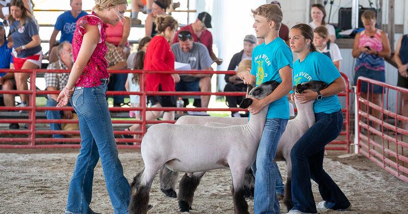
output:
[[[15, 106], [0, 106], [0, 111], [16, 111], [24, 110], [29, 112], [28, 119], [0, 119], [0, 123], [29, 123], [29, 129], [26, 130], [2, 130], [0, 129], [0, 148], [79, 148], [78, 144], [81, 142], [80, 138], [40, 138], [40, 135], [52, 135], [52, 134], [63, 134], [63, 135], [79, 135], [79, 130], [66, 131], [66, 130], [37, 130], [36, 126], [33, 124], [44, 124], [44, 123], [78, 123], [78, 120], [72, 119], [60, 119], [60, 120], [49, 120], [49, 119], [37, 119], [36, 113], [47, 110], [59, 110], [59, 111], [72, 111], [72, 107], [62, 107], [57, 108], [55, 106], [36, 106], [35, 101], [37, 95], [46, 94], [59, 94], [59, 91], [42, 91], [36, 90], [35, 77], [37, 73], [54, 72], [54, 73], [64, 73], [69, 72], [67, 70], [44, 70], [44, 69], [34, 69], [34, 70], [8, 70], [0, 69], [0, 72], [25, 72], [30, 73], [30, 89], [27, 91], [16, 91], [16, 90], [0, 90], [0, 94], [28, 94], [30, 97], [30, 104], [27, 107], [15, 107]], [[189, 74], [234, 74], [235, 71], [143, 71], [143, 70], [112, 70], [110, 73], [139, 73], [140, 75], [140, 92], [126, 92], [126, 91], [108, 91], [107, 96], [112, 95], [139, 95], [140, 100], [146, 100], [148, 95], [216, 95], [216, 96], [244, 96], [245, 92], [151, 92], [145, 91], [146, 85], [146, 73], [189, 73]], [[342, 76], [345, 78], [348, 86], [348, 78], [344, 74]], [[349, 151], [350, 144], [350, 133], [349, 133], [349, 87], [345, 92], [339, 94], [339, 96], [345, 96], [347, 103], [346, 108], [343, 112], [346, 115], [345, 130], [342, 131], [341, 135], [346, 136], [345, 140], [333, 141], [330, 145], [335, 145], [327, 147], [328, 150], [345, 150]], [[139, 131], [125, 131], [125, 130], [114, 130], [114, 135], [140, 135], [142, 136], [146, 132], [146, 124], [156, 124], [156, 123], [174, 123], [175, 121], [157, 121], [157, 120], [146, 120], [146, 111], [226, 111], [226, 112], [237, 112], [244, 111], [240, 108], [147, 108], [146, 102], [141, 101], [141, 106], [138, 108], [120, 108], [111, 107], [109, 111], [112, 112], [129, 112], [129, 111], [140, 111], [141, 120], [112, 120], [113, 124], [141, 124], [141, 130]], [[9, 135], [5, 137], [4, 135]], [[27, 138], [16, 137], [16, 135], [27, 135]], [[141, 138], [139, 139], [123, 139], [115, 138], [118, 143], [119, 148], [140, 148]], [[56, 144], [56, 143], [65, 144]], [[134, 145], [123, 145], [124, 143], [135, 143]], [[343, 145], [343, 146], [338, 146]]]

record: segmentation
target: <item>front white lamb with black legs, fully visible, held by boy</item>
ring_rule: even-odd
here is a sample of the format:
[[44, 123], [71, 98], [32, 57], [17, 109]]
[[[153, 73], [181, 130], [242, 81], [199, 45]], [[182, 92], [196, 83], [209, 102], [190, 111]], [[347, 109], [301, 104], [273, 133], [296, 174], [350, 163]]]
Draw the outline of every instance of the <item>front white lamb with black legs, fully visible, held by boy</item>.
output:
[[[263, 98], [277, 87], [275, 81], [253, 88], [250, 96]], [[250, 104], [250, 103], [249, 103]], [[247, 108], [249, 106], [241, 106]], [[268, 106], [252, 115], [245, 125], [211, 127], [203, 125], [156, 124], [142, 139], [144, 168], [132, 182], [130, 213], [147, 213], [152, 181], [165, 165], [172, 171], [204, 172], [230, 168], [236, 213], [249, 213], [243, 191], [245, 169], [255, 159], [264, 129]], [[234, 136], [231, 135], [234, 133]]]

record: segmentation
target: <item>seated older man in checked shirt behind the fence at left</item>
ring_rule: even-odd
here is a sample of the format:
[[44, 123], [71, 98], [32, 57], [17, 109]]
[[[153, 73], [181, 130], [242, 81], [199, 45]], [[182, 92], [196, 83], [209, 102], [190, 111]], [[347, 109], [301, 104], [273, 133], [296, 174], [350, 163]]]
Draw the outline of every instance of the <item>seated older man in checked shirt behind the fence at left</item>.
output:
[[[50, 63], [48, 70], [71, 70], [73, 65], [72, 46], [64, 41], [58, 45], [58, 60]], [[48, 91], [62, 90], [68, 82], [69, 73], [45, 73], [45, 85]], [[48, 94], [47, 106], [57, 106], [58, 94]], [[72, 111], [46, 111], [47, 119], [72, 119]], [[50, 123], [51, 130], [62, 130], [61, 123]], [[64, 138], [64, 135], [53, 134], [53, 138]]]

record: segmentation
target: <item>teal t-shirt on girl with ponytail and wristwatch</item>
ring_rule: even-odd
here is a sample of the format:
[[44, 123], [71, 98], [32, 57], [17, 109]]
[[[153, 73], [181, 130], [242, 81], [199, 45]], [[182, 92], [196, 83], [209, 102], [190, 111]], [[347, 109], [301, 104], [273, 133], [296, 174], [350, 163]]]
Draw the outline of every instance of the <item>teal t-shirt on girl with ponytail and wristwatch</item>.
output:
[[[331, 84], [340, 76], [339, 70], [331, 62], [331, 59], [317, 51], [310, 52], [302, 62], [297, 60], [293, 63], [293, 86], [309, 81], [322, 81]], [[330, 114], [340, 109], [341, 104], [337, 95], [323, 97], [313, 103], [315, 113]]]

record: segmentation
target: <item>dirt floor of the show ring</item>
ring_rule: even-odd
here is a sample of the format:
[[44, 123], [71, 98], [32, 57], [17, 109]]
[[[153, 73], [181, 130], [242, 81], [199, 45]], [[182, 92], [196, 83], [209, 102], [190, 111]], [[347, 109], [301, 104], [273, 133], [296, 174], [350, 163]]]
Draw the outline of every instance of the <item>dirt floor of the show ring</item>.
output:
[[[68, 184], [78, 150], [0, 150], [0, 213], [63, 213]], [[140, 151], [120, 150], [119, 158], [127, 179], [143, 167]], [[346, 212], [320, 213], [406, 213], [408, 183], [392, 176], [362, 156], [339, 158], [329, 154], [324, 168], [338, 183], [352, 204]], [[285, 179], [285, 163], [279, 163]], [[228, 170], [208, 172], [199, 185], [191, 213], [233, 213]], [[315, 200], [320, 195], [314, 184]], [[158, 179], [150, 194], [149, 213], [177, 213], [177, 201], [164, 197]], [[253, 200], [248, 200], [253, 213]], [[100, 162], [93, 184], [94, 211], [113, 213]], [[405, 211], [403, 211], [405, 210]], [[281, 206], [282, 213], [286, 208]]]

